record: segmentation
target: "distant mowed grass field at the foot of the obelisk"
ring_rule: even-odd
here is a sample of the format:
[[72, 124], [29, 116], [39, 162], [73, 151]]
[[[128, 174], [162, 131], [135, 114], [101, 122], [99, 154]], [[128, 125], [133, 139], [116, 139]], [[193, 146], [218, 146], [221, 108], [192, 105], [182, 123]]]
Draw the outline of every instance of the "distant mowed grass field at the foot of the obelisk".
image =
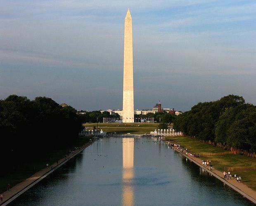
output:
[[[92, 130], [93, 126], [97, 127], [97, 123], [83, 124], [87, 130]], [[107, 133], [118, 134], [149, 134], [151, 131], [158, 129], [159, 123], [98, 123], [99, 130]]]

